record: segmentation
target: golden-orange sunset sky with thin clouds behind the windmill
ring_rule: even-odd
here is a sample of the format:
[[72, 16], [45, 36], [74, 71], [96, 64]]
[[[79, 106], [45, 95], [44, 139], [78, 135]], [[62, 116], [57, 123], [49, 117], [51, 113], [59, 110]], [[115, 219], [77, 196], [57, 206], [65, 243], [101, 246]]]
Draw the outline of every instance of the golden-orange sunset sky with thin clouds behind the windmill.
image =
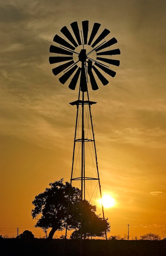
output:
[[[120, 66], [89, 90], [110, 235], [166, 236], [166, 2], [0, 1], [0, 234], [35, 229], [32, 201], [50, 182], [70, 181], [78, 97], [59, 82], [49, 48], [63, 26], [101, 24], [118, 40]], [[55, 236], [57, 234], [55, 233]]]

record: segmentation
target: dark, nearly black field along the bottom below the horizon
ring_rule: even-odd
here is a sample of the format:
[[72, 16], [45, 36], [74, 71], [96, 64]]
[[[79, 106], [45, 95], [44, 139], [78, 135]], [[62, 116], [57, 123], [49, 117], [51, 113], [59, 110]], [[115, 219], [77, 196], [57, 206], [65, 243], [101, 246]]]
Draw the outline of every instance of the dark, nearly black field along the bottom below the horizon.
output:
[[2, 256], [166, 256], [166, 240], [0, 239]]

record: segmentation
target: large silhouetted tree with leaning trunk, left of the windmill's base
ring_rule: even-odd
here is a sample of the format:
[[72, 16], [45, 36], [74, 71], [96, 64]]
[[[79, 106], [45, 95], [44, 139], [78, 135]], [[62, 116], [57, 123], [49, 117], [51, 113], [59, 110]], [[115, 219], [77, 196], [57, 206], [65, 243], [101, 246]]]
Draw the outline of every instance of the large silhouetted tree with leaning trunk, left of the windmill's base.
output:
[[32, 202], [35, 209], [31, 214], [33, 218], [38, 218], [35, 227], [43, 230], [51, 228], [48, 239], [52, 239], [55, 231], [66, 227], [67, 216], [68, 229], [75, 229], [77, 226], [73, 217], [81, 201], [81, 191], [68, 182], [63, 184], [63, 179], [49, 185], [50, 188], [35, 196]]

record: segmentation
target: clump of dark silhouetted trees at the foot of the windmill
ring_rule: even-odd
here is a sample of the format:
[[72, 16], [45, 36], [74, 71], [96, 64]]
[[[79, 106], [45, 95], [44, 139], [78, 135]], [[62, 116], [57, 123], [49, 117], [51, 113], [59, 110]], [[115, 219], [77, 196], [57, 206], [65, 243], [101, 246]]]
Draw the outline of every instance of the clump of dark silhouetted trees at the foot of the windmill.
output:
[[[68, 222], [68, 229], [82, 230], [86, 236], [103, 236], [109, 229], [107, 220], [96, 215], [96, 207], [88, 201], [81, 201], [81, 191], [63, 179], [50, 183], [43, 193], [35, 196], [31, 211], [32, 217], [37, 218], [35, 227], [44, 231], [51, 228], [48, 239], [51, 239], [57, 230], [63, 230]], [[82, 229], [81, 229], [82, 223]]]

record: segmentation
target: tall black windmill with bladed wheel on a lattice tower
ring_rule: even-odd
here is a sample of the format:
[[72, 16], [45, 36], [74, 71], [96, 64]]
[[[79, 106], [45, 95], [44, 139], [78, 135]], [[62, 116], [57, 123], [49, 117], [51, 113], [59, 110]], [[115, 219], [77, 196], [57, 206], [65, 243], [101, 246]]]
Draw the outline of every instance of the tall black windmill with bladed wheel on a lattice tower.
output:
[[[120, 54], [120, 50], [111, 49], [117, 43], [116, 38], [105, 40], [110, 33], [108, 29], [98, 33], [99, 23], [94, 23], [91, 31], [89, 30], [88, 20], [82, 21], [81, 29], [79, 29], [77, 22], [72, 22], [70, 26], [70, 30], [66, 26], [61, 29], [65, 39], [57, 34], [55, 35], [53, 41], [58, 46], [51, 45], [50, 52], [56, 56], [50, 56], [49, 58], [50, 64], [55, 64], [52, 69], [53, 74], [55, 76], [62, 74], [59, 77], [62, 84], [68, 83], [71, 90], [75, 90], [77, 83], [79, 84], [78, 100], [70, 103], [77, 108], [70, 182], [71, 184], [79, 182], [81, 200], [83, 201], [86, 195], [89, 194], [87, 182], [96, 181], [101, 199], [97, 150], [91, 115], [91, 106], [96, 102], [90, 101], [88, 90], [89, 85], [92, 86], [92, 90], [98, 90], [99, 83], [103, 85], [109, 83], [106, 76], [114, 77], [116, 75], [116, 72], [111, 70], [110, 67], [111, 65], [119, 66], [120, 61], [111, 57]], [[89, 155], [87, 149], [90, 151]], [[92, 174], [90, 174], [88, 167], [88, 156], [93, 159], [92, 169], [95, 169], [95, 171]], [[102, 203], [101, 207], [103, 218], [105, 218]], [[105, 236], [107, 239], [106, 233]]]

